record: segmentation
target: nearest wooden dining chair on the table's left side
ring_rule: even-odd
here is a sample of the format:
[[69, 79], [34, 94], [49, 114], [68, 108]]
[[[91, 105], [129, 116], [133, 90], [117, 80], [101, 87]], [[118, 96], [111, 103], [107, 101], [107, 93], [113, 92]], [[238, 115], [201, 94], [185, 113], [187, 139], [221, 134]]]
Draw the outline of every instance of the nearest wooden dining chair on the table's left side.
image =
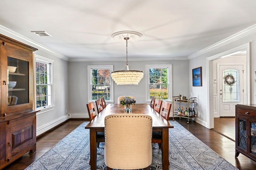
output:
[[[96, 117], [96, 111], [93, 102], [86, 104], [90, 121]], [[104, 132], [97, 132], [96, 134], [97, 147], [100, 146], [100, 142], [105, 142]]]

